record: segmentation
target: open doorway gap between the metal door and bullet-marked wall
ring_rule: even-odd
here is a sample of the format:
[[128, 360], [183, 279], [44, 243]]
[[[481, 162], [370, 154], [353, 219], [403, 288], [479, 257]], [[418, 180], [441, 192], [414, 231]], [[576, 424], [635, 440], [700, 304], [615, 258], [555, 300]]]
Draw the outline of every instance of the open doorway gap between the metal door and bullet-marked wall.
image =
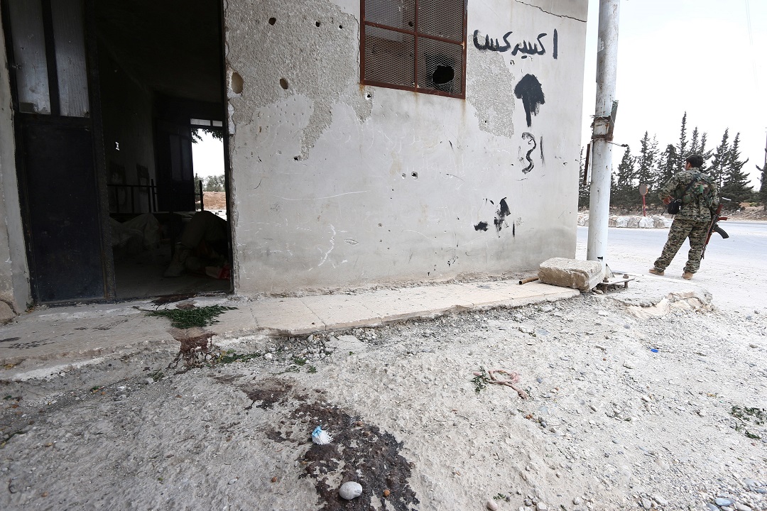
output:
[[221, 4], [92, 5], [115, 295], [229, 291]]

